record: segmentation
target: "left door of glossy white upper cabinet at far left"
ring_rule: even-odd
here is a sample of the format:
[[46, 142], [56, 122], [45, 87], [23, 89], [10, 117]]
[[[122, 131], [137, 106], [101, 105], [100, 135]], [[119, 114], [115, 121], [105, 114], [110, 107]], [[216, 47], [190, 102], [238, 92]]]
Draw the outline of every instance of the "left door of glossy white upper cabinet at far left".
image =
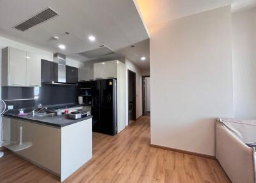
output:
[[9, 48], [8, 86], [26, 86], [26, 51]]

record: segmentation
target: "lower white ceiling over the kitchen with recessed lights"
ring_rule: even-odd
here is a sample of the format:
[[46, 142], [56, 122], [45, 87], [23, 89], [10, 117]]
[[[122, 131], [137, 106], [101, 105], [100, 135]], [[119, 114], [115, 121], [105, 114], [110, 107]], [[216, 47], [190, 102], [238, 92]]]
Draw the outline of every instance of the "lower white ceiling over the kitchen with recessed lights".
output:
[[[13, 29], [47, 6], [60, 15], [24, 32]], [[66, 31], [70, 35], [65, 35]], [[78, 61], [88, 61], [78, 52], [104, 44], [139, 66], [149, 67], [147, 62], [139, 61], [144, 54], [149, 58], [149, 44], [138, 44], [148, 38], [148, 33], [133, 0], [1, 0], [0, 35], [47, 51], [62, 52]], [[95, 42], [88, 40], [89, 35], [96, 37]], [[52, 40], [52, 36], [59, 36], [60, 40]], [[59, 44], [66, 45], [65, 51], [58, 49]], [[130, 50], [129, 46], [134, 44], [138, 47]]]

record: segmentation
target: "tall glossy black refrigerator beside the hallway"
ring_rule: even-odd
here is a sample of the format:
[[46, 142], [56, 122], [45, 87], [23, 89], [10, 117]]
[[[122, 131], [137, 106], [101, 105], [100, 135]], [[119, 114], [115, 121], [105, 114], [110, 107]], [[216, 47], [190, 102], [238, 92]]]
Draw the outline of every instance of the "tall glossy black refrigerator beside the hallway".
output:
[[117, 133], [116, 79], [92, 81], [93, 132]]

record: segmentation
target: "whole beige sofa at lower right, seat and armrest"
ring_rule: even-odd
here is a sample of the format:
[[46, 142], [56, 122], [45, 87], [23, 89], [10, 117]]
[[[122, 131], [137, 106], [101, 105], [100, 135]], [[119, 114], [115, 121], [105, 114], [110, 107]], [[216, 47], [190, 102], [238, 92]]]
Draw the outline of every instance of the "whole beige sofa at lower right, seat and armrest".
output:
[[233, 183], [255, 183], [256, 120], [219, 118], [216, 124], [216, 158]]

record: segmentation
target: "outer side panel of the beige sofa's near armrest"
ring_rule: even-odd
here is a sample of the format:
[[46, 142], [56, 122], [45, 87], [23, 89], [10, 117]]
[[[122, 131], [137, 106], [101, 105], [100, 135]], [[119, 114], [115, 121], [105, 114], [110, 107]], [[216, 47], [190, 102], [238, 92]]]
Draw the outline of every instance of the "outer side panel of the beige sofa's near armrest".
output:
[[216, 158], [233, 183], [255, 183], [255, 148], [245, 145], [221, 122], [216, 124]]

